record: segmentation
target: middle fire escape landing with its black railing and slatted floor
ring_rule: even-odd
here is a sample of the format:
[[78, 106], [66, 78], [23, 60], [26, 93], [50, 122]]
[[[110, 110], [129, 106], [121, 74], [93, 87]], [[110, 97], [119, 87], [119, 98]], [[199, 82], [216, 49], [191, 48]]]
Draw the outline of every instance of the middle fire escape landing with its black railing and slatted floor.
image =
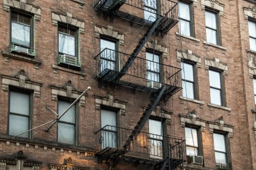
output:
[[[161, 98], [164, 101], [182, 89], [180, 68], [152, 62], [141, 57], [135, 57], [125, 75], [116, 82], [117, 77], [122, 74], [120, 73], [121, 68], [130, 57], [130, 54], [104, 49], [95, 57], [97, 71], [95, 78], [102, 85], [117, 84], [134, 91], [140, 90], [148, 93], [156, 93], [159, 88], [166, 85], [166, 90]], [[152, 73], [154, 76], [150, 76]]]

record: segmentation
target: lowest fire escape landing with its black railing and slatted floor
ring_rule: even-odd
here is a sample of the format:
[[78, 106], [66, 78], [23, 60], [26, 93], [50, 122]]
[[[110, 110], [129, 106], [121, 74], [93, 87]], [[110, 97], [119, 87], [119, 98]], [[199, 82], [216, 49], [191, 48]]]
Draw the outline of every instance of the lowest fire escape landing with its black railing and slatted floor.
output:
[[[128, 136], [133, 133], [130, 146], [125, 149]], [[143, 163], [153, 169], [170, 166], [174, 169], [186, 161], [185, 140], [176, 136], [162, 136], [147, 132], [134, 133], [122, 127], [105, 126], [95, 132], [98, 162], [117, 165], [120, 160]]]

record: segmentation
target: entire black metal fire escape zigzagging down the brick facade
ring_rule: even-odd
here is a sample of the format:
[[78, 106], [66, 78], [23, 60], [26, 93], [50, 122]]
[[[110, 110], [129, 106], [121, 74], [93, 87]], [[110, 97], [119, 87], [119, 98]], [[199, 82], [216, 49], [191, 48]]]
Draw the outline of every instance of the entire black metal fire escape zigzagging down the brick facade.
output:
[[[149, 13], [154, 13], [155, 18], [153, 19], [145, 19], [143, 15], [137, 16], [126, 10], [141, 10], [141, 13], [143, 13], [143, 11], [148, 10], [145, 4], [153, 4], [156, 1], [158, 1], [155, 5], [156, 12], [148, 11]], [[144, 113], [133, 130], [105, 126], [95, 133], [98, 146], [95, 156], [97, 156], [100, 162], [106, 160], [109, 164], [114, 165], [122, 158], [123, 160], [134, 161], [135, 163], [148, 163], [152, 165], [152, 169], [166, 169], [167, 167], [174, 169], [185, 161], [185, 152], [183, 151], [185, 148], [184, 140], [174, 138], [174, 136], [158, 136], [160, 139], [158, 143], [161, 143], [161, 146], [159, 144], [159, 146], [157, 145], [153, 149], [148, 144], [148, 141], [154, 141], [153, 139], [148, 140], [152, 134], [141, 132], [141, 130], [159, 101], [167, 102], [170, 96], [181, 90], [181, 69], [153, 62], [153, 65], [157, 64], [159, 69], [161, 69], [161, 72], [159, 72], [161, 80], [148, 82], [147, 67], [152, 64], [152, 61], [137, 57], [137, 55], [152, 34], [160, 34], [163, 37], [178, 23], [177, 2], [170, 0], [97, 0], [94, 9], [98, 13], [111, 16], [112, 19], [120, 17], [130, 21], [131, 24], [136, 23], [147, 27], [147, 32], [139, 40], [132, 54], [125, 54], [108, 48], [101, 51], [95, 57], [97, 62], [95, 78], [100, 85], [121, 85], [132, 90], [152, 93], [150, 104], [145, 108]], [[111, 58], [114, 58], [114, 60], [118, 58], [115, 68], [109, 65]], [[157, 85], [158, 88], [151, 84]], [[113, 137], [113, 134], [117, 134], [118, 137], [116, 135]], [[144, 146], [141, 143], [139, 144], [138, 141], [143, 141]], [[155, 150], [157, 154], [153, 152]], [[162, 152], [163, 150], [164, 152]], [[134, 157], [130, 155], [133, 152], [136, 155], [149, 155], [149, 158]]]

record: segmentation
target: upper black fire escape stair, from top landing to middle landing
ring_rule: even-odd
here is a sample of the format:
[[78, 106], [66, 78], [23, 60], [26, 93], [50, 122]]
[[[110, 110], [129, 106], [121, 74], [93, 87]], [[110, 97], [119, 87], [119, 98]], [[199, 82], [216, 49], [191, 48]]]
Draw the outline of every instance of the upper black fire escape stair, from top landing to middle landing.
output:
[[158, 18], [156, 18], [156, 21], [152, 24], [152, 26], [149, 27], [149, 29], [144, 34], [144, 36], [141, 38], [141, 40], [139, 40], [139, 44], [137, 44], [136, 48], [134, 49], [133, 53], [131, 54], [131, 57], [129, 57], [128, 60], [126, 61], [125, 65], [123, 65], [123, 68], [121, 69], [119, 75], [117, 77], [115, 77], [114, 83], [119, 82], [119, 80], [125, 75], [126, 71], [133, 64], [135, 58], [137, 57], [137, 55], [143, 48], [144, 44], [147, 42], [148, 38], [153, 34], [153, 32], [155, 32], [161, 19], [162, 19], [162, 17], [158, 16]]

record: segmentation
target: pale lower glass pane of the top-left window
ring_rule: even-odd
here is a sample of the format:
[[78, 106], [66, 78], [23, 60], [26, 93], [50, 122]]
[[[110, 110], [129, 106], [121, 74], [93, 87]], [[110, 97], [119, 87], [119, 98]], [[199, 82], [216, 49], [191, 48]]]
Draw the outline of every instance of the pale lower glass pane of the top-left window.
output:
[[30, 26], [12, 21], [12, 43], [30, 46]]

